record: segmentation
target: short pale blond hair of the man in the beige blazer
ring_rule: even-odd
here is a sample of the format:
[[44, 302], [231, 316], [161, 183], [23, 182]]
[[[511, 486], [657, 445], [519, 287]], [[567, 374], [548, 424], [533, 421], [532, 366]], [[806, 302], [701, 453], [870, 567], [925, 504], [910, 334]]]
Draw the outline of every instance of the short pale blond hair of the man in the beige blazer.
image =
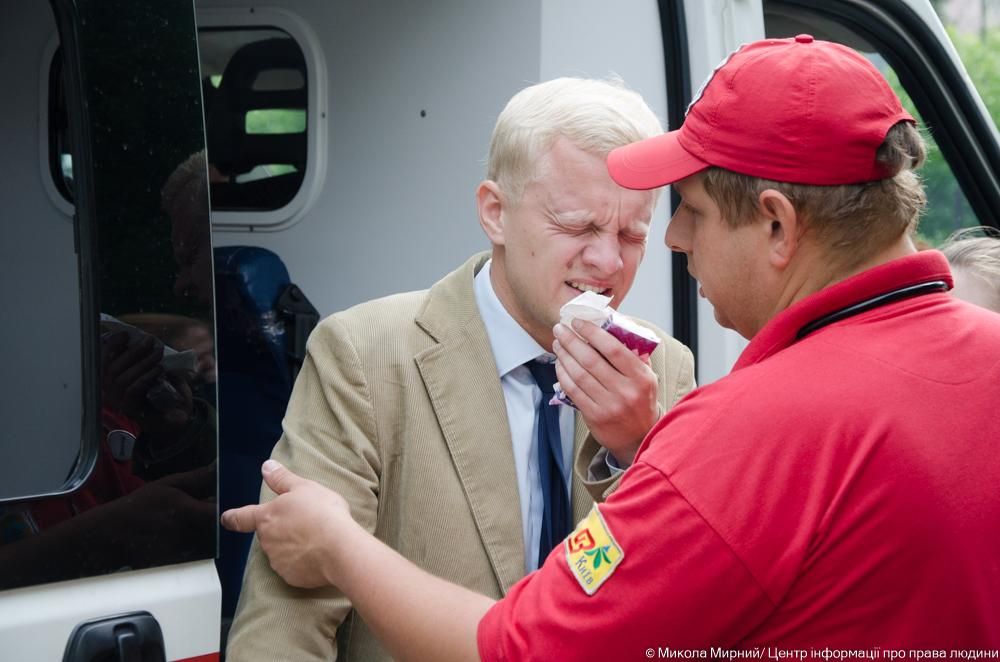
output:
[[493, 129], [486, 176], [516, 205], [560, 136], [604, 158], [661, 133], [656, 114], [621, 79], [556, 78], [524, 88], [507, 103]]

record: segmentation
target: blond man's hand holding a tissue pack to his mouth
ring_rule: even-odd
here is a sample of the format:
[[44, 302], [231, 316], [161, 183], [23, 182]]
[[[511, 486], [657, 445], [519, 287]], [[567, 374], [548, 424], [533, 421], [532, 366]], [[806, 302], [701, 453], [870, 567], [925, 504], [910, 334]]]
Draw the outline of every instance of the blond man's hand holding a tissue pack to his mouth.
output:
[[[656, 373], [649, 356], [638, 356], [592, 322], [554, 328], [556, 376], [591, 434], [622, 468], [632, 464], [639, 444], [659, 418]], [[579, 335], [577, 335], [579, 334]]]

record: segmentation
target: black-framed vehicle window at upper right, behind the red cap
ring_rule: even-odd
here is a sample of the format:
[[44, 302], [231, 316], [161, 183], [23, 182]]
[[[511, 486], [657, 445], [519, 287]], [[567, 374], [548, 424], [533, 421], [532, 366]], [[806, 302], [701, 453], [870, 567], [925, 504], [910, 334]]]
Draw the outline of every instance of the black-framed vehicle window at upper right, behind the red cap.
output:
[[[919, 171], [928, 204], [918, 244], [938, 246], [961, 228], [1000, 223], [1000, 191], [992, 174], [1000, 159], [995, 128], [943, 48], [943, 34], [896, 0], [830, 2], [821, 8], [801, 0], [770, 0], [764, 8], [768, 37], [809, 33], [862, 52], [917, 119], [928, 148]], [[969, 53], [959, 49], [959, 55]]]

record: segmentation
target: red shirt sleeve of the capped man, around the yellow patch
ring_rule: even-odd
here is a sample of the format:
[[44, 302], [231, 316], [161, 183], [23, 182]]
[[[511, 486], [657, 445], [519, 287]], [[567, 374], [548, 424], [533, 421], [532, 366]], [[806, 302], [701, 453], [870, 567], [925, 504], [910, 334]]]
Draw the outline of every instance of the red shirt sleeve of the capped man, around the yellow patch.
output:
[[480, 621], [482, 660], [646, 659], [649, 648], [728, 648], [773, 609], [740, 559], [657, 469], [640, 461], [595, 508], [620, 562], [588, 595], [570, 565], [571, 534]]

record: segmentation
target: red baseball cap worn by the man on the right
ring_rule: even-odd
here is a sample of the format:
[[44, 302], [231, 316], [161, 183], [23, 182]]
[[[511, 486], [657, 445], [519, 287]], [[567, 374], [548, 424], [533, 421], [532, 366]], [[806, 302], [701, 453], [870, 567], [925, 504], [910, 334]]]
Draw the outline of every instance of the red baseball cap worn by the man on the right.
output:
[[608, 172], [650, 189], [712, 166], [779, 182], [884, 179], [875, 152], [898, 122], [896, 93], [856, 51], [802, 34], [732, 53], [702, 85], [676, 131], [619, 147]]

